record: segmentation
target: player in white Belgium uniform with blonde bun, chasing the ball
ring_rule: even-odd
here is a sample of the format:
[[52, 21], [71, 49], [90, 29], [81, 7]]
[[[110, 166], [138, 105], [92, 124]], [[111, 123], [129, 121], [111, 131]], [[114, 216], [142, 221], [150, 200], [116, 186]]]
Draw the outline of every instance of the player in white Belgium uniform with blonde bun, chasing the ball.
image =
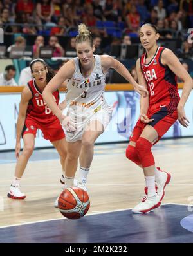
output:
[[[51, 111], [62, 123], [67, 141], [67, 158], [65, 164], [65, 185], [73, 186], [77, 160], [80, 155], [80, 184], [86, 189], [86, 177], [93, 160], [93, 147], [96, 138], [103, 133], [111, 120], [111, 109], [104, 98], [105, 74], [114, 68], [124, 76], [140, 94], [147, 90], [134, 81], [129, 71], [111, 56], [93, 55], [95, 46], [86, 25], [78, 26], [76, 37], [77, 58], [73, 58], [59, 70], [44, 89], [43, 98]], [[66, 79], [67, 115], [62, 114], [52, 97]], [[80, 153], [81, 151], [81, 153]]]

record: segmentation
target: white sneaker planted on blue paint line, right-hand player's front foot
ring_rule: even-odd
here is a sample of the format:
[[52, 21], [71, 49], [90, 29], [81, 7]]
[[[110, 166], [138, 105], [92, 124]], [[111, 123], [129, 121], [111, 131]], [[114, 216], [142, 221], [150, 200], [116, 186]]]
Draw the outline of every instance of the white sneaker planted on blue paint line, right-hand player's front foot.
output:
[[150, 211], [154, 211], [154, 209], [159, 208], [161, 206], [160, 197], [158, 195], [154, 195], [152, 197], [143, 197], [142, 202], [136, 205], [133, 209], [133, 213], [149, 213]]

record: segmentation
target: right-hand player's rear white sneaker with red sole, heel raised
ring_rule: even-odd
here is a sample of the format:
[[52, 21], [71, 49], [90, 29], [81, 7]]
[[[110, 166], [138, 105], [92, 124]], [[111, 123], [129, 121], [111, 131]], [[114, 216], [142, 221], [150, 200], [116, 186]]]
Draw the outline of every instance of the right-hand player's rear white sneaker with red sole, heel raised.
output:
[[[160, 171], [160, 177], [159, 180], [156, 180], [156, 192], [158, 193], [160, 197], [160, 202], [165, 196], [165, 186], [169, 184], [171, 180], [170, 173], [167, 173], [166, 171], [162, 171], [160, 167], [157, 167], [158, 171]], [[145, 187], [145, 194], [147, 195], [147, 187]]]

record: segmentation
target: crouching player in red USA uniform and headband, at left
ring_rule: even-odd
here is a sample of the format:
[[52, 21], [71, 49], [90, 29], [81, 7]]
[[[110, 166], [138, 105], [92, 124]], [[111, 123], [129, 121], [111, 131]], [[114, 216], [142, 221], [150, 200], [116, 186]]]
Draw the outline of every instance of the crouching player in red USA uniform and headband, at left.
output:
[[[66, 159], [66, 138], [64, 131], [58, 118], [53, 115], [42, 98], [42, 91], [51, 78], [53, 78], [54, 73], [43, 59], [33, 59], [30, 63], [30, 68], [34, 79], [28, 82], [28, 86], [24, 87], [19, 104], [15, 146], [17, 164], [15, 177], [12, 180], [10, 191], [8, 192], [8, 197], [12, 199], [24, 199], [26, 197], [20, 191], [19, 182], [28, 163], [28, 159], [33, 153], [37, 129], [41, 129], [44, 138], [50, 140], [51, 144], [57, 149], [63, 171]], [[58, 105], [59, 91], [53, 92], [53, 98]], [[21, 155], [19, 155], [21, 136], [23, 137], [24, 147]]]

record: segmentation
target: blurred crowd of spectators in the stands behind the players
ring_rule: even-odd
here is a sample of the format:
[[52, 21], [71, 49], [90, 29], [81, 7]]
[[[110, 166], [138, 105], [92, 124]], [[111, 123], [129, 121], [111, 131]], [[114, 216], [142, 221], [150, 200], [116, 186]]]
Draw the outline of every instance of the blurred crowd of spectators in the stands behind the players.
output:
[[[188, 40], [193, 0], [2, 0], [1, 63], [12, 59], [17, 83], [32, 58], [48, 59], [57, 71], [76, 56], [75, 36], [82, 22], [92, 32], [95, 54], [115, 56], [133, 72], [143, 53], [138, 30], [143, 23], [152, 23], [158, 27], [159, 44], [173, 50], [193, 76], [193, 36]], [[124, 81], [112, 73], [107, 82]]]

